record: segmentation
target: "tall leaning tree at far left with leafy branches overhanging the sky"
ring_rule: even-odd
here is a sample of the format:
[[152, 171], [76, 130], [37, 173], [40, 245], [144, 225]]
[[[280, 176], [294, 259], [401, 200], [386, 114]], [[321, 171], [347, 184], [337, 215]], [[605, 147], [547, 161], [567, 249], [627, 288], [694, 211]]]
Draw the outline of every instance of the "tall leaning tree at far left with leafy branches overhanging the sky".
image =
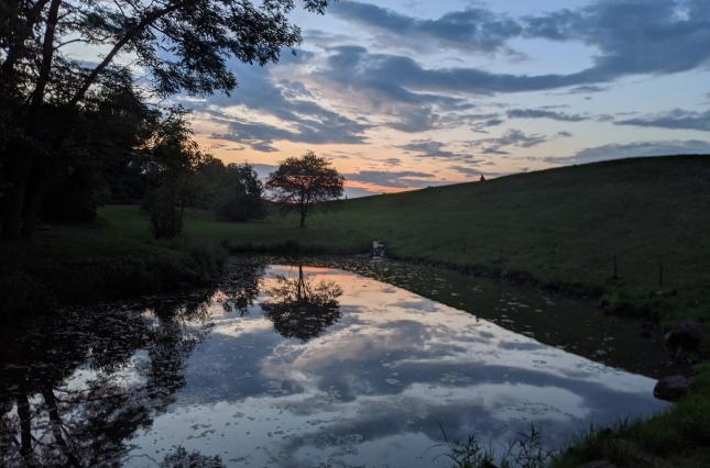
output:
[[[303, 0], [323, 13], [328, 0]], [[149, 73], [159, 96], [178, 91], [230, 91], [237, 78], [230, 59], [265, 65], [301, 41], [291, 23], [293, 0], [15, 0], [0, 5], [0, 148], [4, 182], [3, 235], [17, 237], [36, 216], [54, 177], [73, 115], [97, 88], [110, 87], [130, 68]], [[67, 53], [83, 44], [96, 64]], [[123, 64], [129, 64], [123, 65]], [[37, 140], [47, 107], [69, 118]], [[34, 183], [30, 179], [34, 178]], [[37, 202], [37, 199], [40, 202]]]

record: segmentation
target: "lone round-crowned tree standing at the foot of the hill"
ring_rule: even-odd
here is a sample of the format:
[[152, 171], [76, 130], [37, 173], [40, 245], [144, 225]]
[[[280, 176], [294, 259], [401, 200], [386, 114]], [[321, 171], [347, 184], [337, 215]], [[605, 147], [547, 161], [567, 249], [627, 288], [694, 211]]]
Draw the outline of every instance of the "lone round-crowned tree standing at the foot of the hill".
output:
[[301, 158], [290, 157], [281, 163], [269, 176], [266, 188], [284, 209], [298, 211], [301, 227], [304, 227], [314, 205], [342, 196], [343, 180], [326, 158], [306, 152]]

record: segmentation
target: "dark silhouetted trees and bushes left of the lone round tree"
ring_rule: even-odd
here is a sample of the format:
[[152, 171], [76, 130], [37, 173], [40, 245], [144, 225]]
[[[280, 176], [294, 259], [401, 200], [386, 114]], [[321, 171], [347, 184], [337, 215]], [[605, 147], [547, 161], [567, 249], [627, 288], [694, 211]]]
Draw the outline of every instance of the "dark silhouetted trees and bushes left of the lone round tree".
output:
[[[321, 13], [327, 0], [304, 0]], [[292, 0], [17, 0], [0, 3], [2, 236], [41, 218], [90, 220], [102, 202], [140, 202], [154, 232], [179, 232], [189, 203], [221, 218], [259, 215], [248, 167], [220, 165], [185, 112], [151, 102], [229, 92], [229, 60], [265, 65], [301, 41]], [[96, 63], [72, 48], [96, 54]], [[129, 65], [130, 64], [130, 65]], [[141, 80], [134, 76], [140, 70]], [[208, 188], [208, 175], [216, 180]], [[197, 194], [199, 192], [199, 196]]]

